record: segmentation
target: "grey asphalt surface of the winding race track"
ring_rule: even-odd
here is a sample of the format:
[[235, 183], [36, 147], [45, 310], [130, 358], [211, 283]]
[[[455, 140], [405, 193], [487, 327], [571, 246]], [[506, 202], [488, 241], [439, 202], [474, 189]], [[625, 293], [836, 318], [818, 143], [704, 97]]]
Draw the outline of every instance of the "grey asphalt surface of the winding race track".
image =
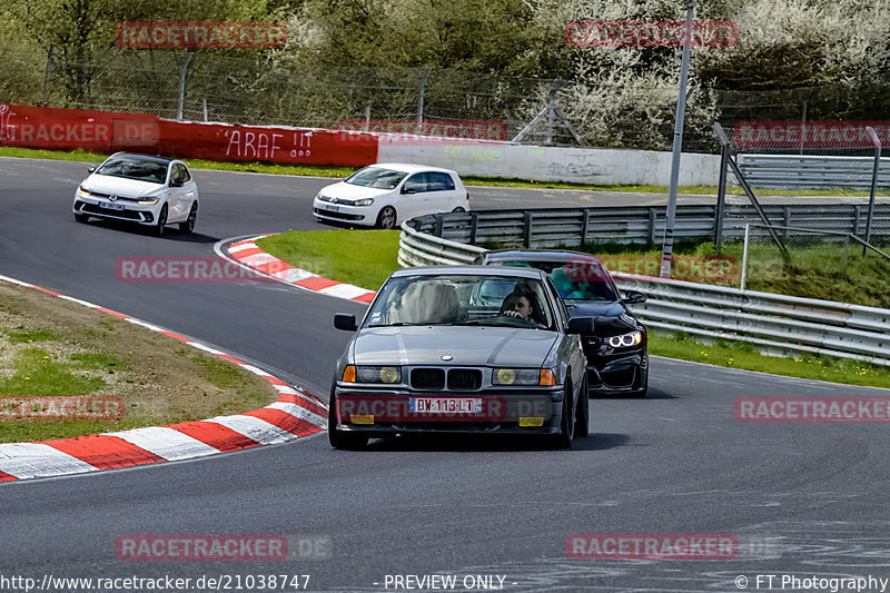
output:
[[[196, 171], [196, 234], [156, 238], [73, 220], [86, 167], [0, 159], [0, 274], [200, 338], [325, 394], [349, 337], [332, 315], [364, 305], [277, 284], [122, 283], [115, 263], [211, 256], [224, 238], [326, 228], [309, 207], [329, 181]], [[511, 191], [472, 189], [473, 206]], [[513, 191], [512, 206], [580, 202], [577, 194]], [[886, 425], [739, 423], [733, 403], [751, 395], [890, 394], [653, 358], [650, 397], [593, 401], [594, 434], [567, 452], [481, 439], [342, 452], [322, 434], [6, 483], [0, 575], [308, 574], [310, 591], [385, 591], [386, 575], [447, 573], [458, 583], [501, 575], [504, 591], [530, 592], [739, 591], [739, 575], [754, 590], [756, 574], [890, 576]], [[741, 545], [733, 560], [570, 560], [565, 543], [576, 533], [720, 533]], [[284, 534], [333, 547], [325, 560], [119, 561], [115, 542], [128, 534]]]

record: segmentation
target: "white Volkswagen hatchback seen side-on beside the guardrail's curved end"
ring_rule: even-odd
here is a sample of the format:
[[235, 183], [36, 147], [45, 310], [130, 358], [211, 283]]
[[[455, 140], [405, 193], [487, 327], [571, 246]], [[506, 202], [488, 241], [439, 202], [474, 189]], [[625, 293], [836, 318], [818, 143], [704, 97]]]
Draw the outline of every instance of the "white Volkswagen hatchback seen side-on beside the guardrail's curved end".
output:
[[456, 172], [424, 165], [380, 162], [322, 188], [313, 201], [318, 221], [395, 228], [435, 213], [469, 210], [469, 192]]

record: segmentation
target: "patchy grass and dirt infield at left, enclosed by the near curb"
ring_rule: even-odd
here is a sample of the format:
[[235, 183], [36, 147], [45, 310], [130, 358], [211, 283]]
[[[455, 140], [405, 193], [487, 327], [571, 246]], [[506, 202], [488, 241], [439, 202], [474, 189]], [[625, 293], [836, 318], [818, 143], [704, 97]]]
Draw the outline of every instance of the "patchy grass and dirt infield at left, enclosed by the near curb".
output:
[[0, 283], [0, 398], [116, 396], [118, 421], [0, 422], [0, 443], [46, 441], [236, 414], [277, 399], [236, 365], [142, 327]]

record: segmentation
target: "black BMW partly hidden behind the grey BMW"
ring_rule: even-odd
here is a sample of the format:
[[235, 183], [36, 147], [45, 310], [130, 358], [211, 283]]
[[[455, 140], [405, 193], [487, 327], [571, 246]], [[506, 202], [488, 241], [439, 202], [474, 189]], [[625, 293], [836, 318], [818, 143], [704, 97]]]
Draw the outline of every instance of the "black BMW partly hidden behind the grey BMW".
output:
[[594, 317], [593, 334], [583, 335], [587, 384], [603, 395], [642, 397], [649, 388], [646, 329], [627, 308], [642, 293], [622, 296], [603, 263], [574, 251], [491, 251], [478, 264], [537, 268], [547, 273], [572, 317]]

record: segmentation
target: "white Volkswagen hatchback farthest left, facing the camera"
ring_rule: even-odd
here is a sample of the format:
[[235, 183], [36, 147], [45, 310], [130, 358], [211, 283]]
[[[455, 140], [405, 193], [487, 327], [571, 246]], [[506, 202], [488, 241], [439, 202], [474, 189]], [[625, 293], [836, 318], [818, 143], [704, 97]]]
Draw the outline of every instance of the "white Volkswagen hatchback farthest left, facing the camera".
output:
[[191, 233], [198, 218], [198, 186], [181, 160], [118, 152], [90, 168], [75, 191], [75, 218], [130, 220], [164, 235], [167, 225]]

